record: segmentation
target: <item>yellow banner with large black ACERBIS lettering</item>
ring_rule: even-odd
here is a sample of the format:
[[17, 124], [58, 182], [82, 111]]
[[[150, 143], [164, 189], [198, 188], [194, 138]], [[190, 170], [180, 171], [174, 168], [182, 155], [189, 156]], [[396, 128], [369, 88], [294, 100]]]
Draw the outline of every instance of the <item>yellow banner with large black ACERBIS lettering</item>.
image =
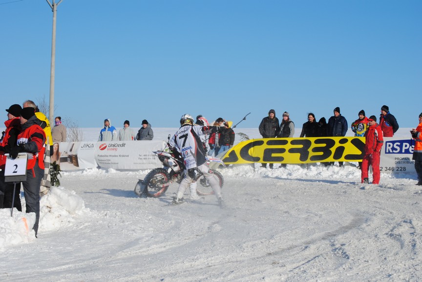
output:
[[359, 162], [365, 137], [264, 138], [243, 141], [228, 150], [225, 164]]

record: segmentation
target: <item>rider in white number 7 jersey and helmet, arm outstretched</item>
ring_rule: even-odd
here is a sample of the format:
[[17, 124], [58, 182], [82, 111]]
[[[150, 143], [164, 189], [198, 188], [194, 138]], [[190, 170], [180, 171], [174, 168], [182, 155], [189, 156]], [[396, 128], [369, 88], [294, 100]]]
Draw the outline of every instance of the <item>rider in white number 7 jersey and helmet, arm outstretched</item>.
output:
[[177, 150], [182, 155], [185, 164], [185, 175], [180, 182], [173, 204], [184, 202], [183, 195], [190, 183], [196, 180], [195, 169], [198, 169], [209, 181], [220, 206], [223, 205], [219, 181], [207, 165], [206, 152], [199, 137], [216, 131], [217, 127], [193, 125], [193, 118], [190, 114], [182, 115], [180, 125], [179, 130], [169, 141], [170, 150]]

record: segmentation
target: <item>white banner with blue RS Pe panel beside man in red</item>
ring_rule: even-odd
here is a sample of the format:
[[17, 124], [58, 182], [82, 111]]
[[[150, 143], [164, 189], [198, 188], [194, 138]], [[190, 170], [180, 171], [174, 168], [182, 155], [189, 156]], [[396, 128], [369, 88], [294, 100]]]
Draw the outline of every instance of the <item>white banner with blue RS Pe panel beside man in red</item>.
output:
[[414, 139], [384, 137], [380, 155], [380, 171], [385, 173], [416, 173], [415, 161], [412, 160]]

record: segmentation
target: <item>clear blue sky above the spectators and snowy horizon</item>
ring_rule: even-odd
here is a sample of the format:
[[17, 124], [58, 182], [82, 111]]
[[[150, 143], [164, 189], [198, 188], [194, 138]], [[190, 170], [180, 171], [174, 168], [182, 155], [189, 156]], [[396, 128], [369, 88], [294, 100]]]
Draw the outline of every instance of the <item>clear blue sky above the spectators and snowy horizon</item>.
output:
[[[10, 1], [0, 0], [3, 109], [48, 102], [50, 85], [53, 13], [45, 0]], [[421, 15], [420, 0], [63, 0], [54, 115], [139, 128], [251, 112], [240, 131], [270, 109], [301, 127], [338, 106], [350, 126], [387, 105], [416, 127]]]

